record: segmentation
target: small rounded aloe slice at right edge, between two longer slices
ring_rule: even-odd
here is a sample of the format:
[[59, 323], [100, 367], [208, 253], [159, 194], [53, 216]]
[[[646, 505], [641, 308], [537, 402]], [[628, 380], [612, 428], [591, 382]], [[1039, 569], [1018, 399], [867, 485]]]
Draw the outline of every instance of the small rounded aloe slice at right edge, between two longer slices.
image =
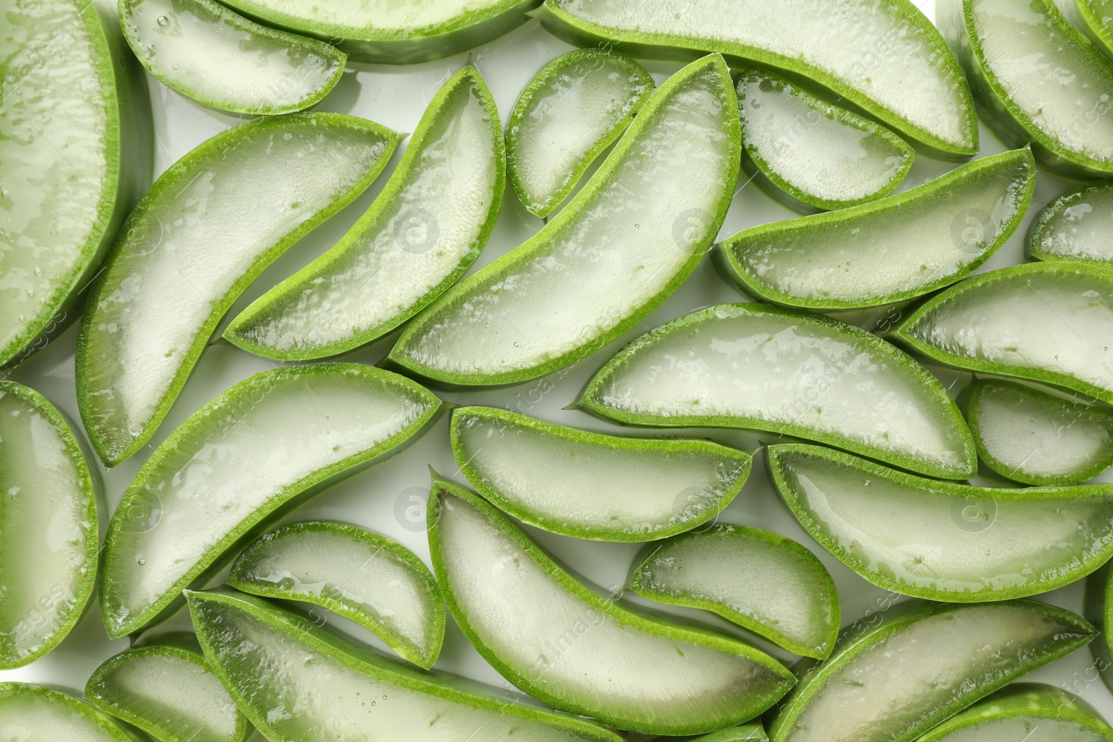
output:
[[1078, 484], [1113, 466], [1113, 410], [985, 379], [966, 400], [978, 458], [1024, 484]]

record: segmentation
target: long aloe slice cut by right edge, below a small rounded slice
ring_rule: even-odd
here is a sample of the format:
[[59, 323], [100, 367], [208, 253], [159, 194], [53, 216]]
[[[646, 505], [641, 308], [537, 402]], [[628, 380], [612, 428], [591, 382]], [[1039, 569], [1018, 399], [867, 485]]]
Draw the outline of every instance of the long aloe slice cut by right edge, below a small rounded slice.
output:
[[820, 446], [769, 447], [774, 484], [824, 548], [887, 590], [975, 603], [1062, 587], [1113, 556], [1113, 485], [989, 488]]

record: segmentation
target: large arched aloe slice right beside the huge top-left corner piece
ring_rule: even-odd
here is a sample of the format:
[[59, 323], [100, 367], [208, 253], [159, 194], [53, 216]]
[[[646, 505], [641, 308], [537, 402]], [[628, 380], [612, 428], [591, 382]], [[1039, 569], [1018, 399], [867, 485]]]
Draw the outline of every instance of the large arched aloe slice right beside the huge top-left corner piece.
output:
[[265, 117], [170, 167], [128, 218], [81, 317], [77, 392], [97, 454], [150, 439], [236, 298], [358, 196], [397, 142], [336, 113]]

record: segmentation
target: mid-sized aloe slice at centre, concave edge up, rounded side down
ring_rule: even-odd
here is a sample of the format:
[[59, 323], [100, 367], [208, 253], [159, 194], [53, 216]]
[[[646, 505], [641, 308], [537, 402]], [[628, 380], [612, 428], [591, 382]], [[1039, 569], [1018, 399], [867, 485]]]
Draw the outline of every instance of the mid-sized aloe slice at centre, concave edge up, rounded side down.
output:
[[452, 415], [452, 453], [480, 494], [520, 521], [577, 538], [664, 538], [715, 517], [749, 454], [709, 441], [627, 438], [493, 407]]

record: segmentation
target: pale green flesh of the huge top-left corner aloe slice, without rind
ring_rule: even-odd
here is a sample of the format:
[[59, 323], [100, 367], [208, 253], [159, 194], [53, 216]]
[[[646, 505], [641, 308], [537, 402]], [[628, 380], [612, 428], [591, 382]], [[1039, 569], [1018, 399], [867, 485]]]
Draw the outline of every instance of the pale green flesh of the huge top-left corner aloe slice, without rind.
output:
[[87, 26], [102, 33], [96, 13], [76, 0], [0, 3], [0, 363], [81, 288], [116, 200], [116, 101]]

